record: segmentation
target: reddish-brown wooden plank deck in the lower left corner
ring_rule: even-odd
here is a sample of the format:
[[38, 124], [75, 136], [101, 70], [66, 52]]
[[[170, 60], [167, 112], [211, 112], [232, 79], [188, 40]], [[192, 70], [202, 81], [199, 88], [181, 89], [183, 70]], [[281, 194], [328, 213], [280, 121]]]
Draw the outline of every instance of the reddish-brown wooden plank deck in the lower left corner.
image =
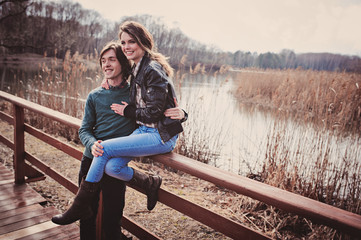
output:
[[74, 223], [59, 226], [51, 217], [59, 211], [43, 207], [46, 200], [28, 184], [14, 184], [14, 175], [0, 164], [0, 239], [79, 239]]

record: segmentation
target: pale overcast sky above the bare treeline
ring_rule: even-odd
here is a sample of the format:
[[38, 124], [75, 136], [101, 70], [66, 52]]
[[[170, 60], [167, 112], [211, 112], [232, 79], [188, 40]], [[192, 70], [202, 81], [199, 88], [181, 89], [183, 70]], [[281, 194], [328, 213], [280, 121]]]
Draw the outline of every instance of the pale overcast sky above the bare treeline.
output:
[[224, 51], [361, 56], [361, 0], [73, 0], [112, 21], [150, 14]]

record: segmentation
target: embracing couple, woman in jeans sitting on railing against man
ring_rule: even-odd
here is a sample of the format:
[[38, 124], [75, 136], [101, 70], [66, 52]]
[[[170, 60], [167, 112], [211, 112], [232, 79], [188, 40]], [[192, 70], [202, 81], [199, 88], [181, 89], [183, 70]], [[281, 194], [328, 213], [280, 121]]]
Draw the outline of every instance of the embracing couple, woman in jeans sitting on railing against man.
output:
[[[79, 172], [78, 193], [65, 213], [52, 218], [60, 225], [81, 220], [81, 238], [84, 239], [95, 236], [95, 233], [88, 237], [85, 234], [89, 235], [89, 228], [95, 229], [94, 212], [100, 188], [104, 197], [107, 239], [120, 236], [118, 222], [124, 207], [124, 182], [144, 189], [148, 210], [155, 207], [162, 178], [128, 167], [128, 163], [133, 157], [172, 151], [178, 134], [183, 131], [181, 122], [187, 118], [177, 106], [170, 79], [173, 69], [166, 58], [154, 50], [149, 31], [137, 22], [128, 21], [121, 25], [119, 39], [120, 45], [111, 42], [102, 50], [100, 66], [105, 81], [87, 98], [79, 129], [86, 149]], [[134, 130], [135, 123], [138, 128]]]

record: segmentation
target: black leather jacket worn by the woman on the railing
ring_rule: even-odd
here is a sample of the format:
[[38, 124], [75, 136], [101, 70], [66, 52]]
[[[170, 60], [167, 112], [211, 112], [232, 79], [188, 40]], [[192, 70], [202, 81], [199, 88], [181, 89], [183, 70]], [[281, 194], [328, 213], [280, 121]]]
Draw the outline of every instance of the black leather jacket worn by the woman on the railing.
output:
[[[145, 108], [136, 108], [136, 86], [141, 87]], [[168, 141], [183, 131], [183, 119], [174, 120], [164, 116], [164, 111], [175, 107], [175, 92], [172, 80], [162, 66], [148, 56], [143, 56], [137, 76], [130, 81], [129, 105], [124, 109], [124, 116], [143, 123], [156, 123], [163, 142]], [[186, 114], [186, 113], [185, 113]], [[187, 114], [186, 114], [187, 116]]]

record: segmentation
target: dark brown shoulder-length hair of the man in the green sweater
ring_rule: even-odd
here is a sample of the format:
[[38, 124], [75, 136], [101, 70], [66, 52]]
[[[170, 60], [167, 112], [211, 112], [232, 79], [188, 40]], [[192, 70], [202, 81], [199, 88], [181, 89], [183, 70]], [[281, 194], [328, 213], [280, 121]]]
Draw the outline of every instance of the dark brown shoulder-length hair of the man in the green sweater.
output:
[[99, 64], [100, 67], [102, 67], [102, 57], [103, 55], [109, 51], [113, 49], [115, 52], [115, 56], [117, 57], [120, 66], [122, 68], [121, 74], [123, 76], [123, 79], [126, 80], [128, 79], [130, 73], [131, 73], [131, 65], [129, 60], [127, 59], [127, 57], [124, 55], [123, 51], [122, 51], [122, 46], [120, 45], [119, 41], [111, 41], [108, 42], [104, 48], [102, 49], [102, 51], [100, 52], [100, 56], [99, 56]]

